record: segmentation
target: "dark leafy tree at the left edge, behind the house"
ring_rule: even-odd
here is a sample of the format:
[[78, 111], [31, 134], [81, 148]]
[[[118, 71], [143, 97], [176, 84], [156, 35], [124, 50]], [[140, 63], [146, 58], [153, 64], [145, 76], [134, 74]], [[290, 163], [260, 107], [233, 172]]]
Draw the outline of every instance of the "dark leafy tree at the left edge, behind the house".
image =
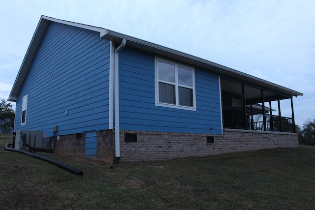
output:
[[14, 110], [5, 99], [0, 100], [0, 131], [9, 133], [14, 128]]

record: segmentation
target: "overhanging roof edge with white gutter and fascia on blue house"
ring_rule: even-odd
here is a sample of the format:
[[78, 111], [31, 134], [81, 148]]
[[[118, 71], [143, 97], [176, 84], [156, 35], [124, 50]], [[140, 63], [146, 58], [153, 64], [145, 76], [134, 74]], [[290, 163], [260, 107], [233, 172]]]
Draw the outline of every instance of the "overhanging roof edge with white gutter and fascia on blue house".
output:
[[288, 96], [298, 96], [303, 95], [303, 93], [285, 88], [283, 86], [268, 82], [266, 80], [262, 80], [260, 78], [254, 77], [252, 75], [237, 71], [232, 68], [228, 68], [226, 66], [220, 65], [218, 63], [211, 62], [209, 60], [204, 60], [177, 50], [173, 50], [167, 47], [163, 47], [158, 44], [154, 44], [152, 42], [144, 41], [132, 36], [128, 36], [122, 33], [118, 33], [112, 30], [107, 30], [99, 27], [89, 26], [80, 23], [74, 23], [70, 21], [64, 21], [60, 19], [55, 19], [47, 16], [41, 16], [37, 28], [33, 34], [32, 41], [27, 50], [27, 53], [24, 57], [16, 80], [14, 82], [13, 88], [9, 95], [8, 101], [16, 101], [18, 93], [22, 87], [23, 81], [28, 73], [30, 65], [32, 63], [33, 57], [37, 51], [37, 48], [40, 44], [40, 41], [45, 33], [45, 30], [50, 22], [57, 22], [69, 26], [74, 26], [82, 29], [93, 30], [99, 32], [100, 38], [105, 38], [115, 42], [121, 42], [123, 39], [126, 39], [126, 45], [134, 48], [138, 48], [141, 50], [145, 50], [148, 52], [152, 52], [156, 55], [160, 55], [169, 59], [174, 59], [178, 61], [183, 61], [193, 66], [199, 66], [201, 68], [209, 69], [213, 72], [216, 72], [220, 75], [225, 75], [230, 78], [235, 78], [240, 81], [247, 82], [249, 84], [255, 84], [260, 87], [264, 87], [268, 90], [274, 90], [276, 92], [281, 92], [284, 95]]

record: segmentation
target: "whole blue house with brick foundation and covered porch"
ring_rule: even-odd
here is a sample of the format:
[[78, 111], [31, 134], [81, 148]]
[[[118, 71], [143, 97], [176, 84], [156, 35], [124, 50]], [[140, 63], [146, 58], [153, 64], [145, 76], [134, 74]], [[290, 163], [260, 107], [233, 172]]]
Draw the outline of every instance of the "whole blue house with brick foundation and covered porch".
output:
[[[56, 153], [114, 164], [298, 147], [298, 95], [151, 42], [42, 16], [8, 100], [16, 101], [15, 131], [43, 131]], [[281, 116], [286, 99], [289, 117]]]

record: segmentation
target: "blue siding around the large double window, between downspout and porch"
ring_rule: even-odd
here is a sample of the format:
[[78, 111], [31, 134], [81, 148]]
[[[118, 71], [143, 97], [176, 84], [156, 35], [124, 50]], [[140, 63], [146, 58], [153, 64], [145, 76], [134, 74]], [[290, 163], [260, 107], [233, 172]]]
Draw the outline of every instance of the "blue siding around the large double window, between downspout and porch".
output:
[[219, 76], [195, 68], [196, 111], [155, 105], [155, 56], [124, 48], [119, 58], [120, 128], [221, 134]]

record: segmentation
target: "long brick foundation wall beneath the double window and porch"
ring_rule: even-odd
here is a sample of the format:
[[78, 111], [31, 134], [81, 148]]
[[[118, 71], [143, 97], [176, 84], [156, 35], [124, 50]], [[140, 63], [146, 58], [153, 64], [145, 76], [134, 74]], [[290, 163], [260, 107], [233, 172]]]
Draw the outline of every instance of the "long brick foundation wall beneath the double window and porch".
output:
[[[137, 133], [137, 142], [126, 143], [125, 133]], [[207, 143], [214, 136], [214, 143]], [[162, 160], [270, 148], [297, 148], [295, 133], [224, 129], [223, 135], [121, 130], [121, 161]]]

